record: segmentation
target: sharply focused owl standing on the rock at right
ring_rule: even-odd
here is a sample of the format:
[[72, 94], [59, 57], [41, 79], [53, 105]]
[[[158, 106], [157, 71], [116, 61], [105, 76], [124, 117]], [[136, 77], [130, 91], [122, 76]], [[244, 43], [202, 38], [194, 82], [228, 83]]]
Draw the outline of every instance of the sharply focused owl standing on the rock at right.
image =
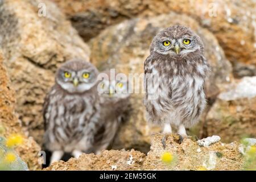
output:
[[163, 133], [172, 133], [173, 125], [187, 137], [185, 128], [197, 123], [205, 107], [209, 70], [203, 42], [195, 32], [179, 25], [160, 31], [144, 61], [148, 120], [160, 123]]

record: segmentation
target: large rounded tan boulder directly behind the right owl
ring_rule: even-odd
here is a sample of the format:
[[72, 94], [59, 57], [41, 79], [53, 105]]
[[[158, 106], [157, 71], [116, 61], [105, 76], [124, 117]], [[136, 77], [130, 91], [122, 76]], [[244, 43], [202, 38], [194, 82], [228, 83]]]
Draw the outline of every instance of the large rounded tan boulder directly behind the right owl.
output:
[[[106, 28], [99, 36], [90, 41], [91, 60], [101, 71], [115, 68], [117, 72], [134, 74], [138, 82], [134, 87], [138, 93], [131, 96], [129, 121], [123, 124], [115, 139], [114, 148], [135, 148], [147, 152], [150, 146], [150, 133], [160, 131], [148, 126], [143, 106], [142, 77], [143, 63], [149, 55], [152, 38], [157, 32], [176, 23], [191, 27], [203, 39], [205, 55], [212, 66], [210, 82], [220, 84], [230, 79], [231, 66], [226, 60], [222, 48], [214, 36], [205, 28], [201, 28], [195, 20], [186, 15], [171, 13], [154, 18], [126, 20], [116, 26]], [[137, 74], [137, 75], [136, 75]]]

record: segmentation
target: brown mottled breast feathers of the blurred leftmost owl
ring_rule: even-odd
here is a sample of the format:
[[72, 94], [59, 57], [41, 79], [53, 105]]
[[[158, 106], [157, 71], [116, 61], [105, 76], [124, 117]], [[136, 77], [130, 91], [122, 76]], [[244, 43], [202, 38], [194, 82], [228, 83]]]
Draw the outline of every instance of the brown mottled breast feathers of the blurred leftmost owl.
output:
[[[97, 94], [69, 94], [55, 85], [44, 102], [46, 146], [75, 146], [84, 136], [93, 135], [100, 114]], [[57, 144], [56, 144], [57, 143]]]

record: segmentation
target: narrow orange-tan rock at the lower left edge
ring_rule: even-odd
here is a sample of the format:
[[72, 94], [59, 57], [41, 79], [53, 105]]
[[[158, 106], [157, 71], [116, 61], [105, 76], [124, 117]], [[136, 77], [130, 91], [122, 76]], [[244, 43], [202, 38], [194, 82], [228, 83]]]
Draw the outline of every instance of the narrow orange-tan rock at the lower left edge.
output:
[[6, 69], [3, 67], [3, 56], [0, 51], [0, 135], [8, 137], [11, 134], [20, 134], [24, 136], [24, 142], [15, 150], [19, 156], [27, 163], [31, 170], [40, 169], [38, 163], [38, 152], [40, 147], [31, 137], [27, 137], [22, 130], [20, 121], [15, 114], [15, 92], [11, 88]]

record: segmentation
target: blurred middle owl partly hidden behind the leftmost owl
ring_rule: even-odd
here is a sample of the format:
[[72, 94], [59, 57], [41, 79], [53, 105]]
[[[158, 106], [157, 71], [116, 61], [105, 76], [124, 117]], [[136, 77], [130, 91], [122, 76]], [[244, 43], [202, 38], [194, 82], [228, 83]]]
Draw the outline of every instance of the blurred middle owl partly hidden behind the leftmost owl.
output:
[[100, 80], [98, 94], [102, 119], [100, 119], [101, 127], [94, 135], [93, 147], [90, 151], [94, 154], [100, 154], [113, 141], [121, 121], [126, 117], [130, 98], [129, 81], [125, 75], [105, 71], [100, 73], [98, 80]]

